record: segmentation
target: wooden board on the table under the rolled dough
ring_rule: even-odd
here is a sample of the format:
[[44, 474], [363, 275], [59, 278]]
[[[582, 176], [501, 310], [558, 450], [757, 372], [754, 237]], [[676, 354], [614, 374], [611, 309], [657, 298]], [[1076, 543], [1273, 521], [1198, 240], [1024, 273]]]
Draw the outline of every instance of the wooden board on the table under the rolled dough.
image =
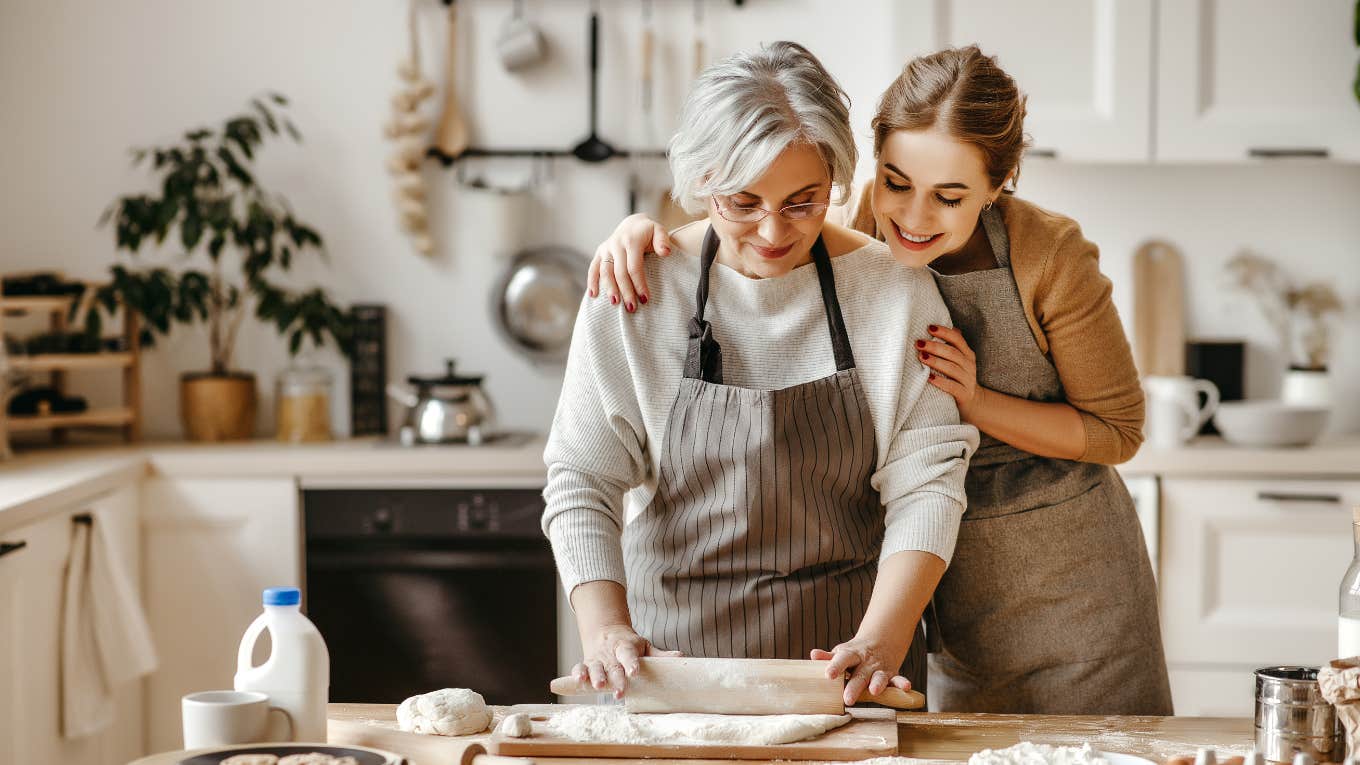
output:
[[[626, 757], [626, 758], [707, 758], [707, 760], [869, 760], [898, 753], [895, 709], [849, 709], [849, 724], [809, 740], [781, 745], [740, 743], [589, 743], [554, 735], [548, 721], [568, 711], [560, 704], [521, 704], [507, 713], [524, 712], [533, 720], [533, 735], [509, 738], [499, 732], [487, 747], [506, 757]], [[422, 764], [423, 765], [423, 764]]]

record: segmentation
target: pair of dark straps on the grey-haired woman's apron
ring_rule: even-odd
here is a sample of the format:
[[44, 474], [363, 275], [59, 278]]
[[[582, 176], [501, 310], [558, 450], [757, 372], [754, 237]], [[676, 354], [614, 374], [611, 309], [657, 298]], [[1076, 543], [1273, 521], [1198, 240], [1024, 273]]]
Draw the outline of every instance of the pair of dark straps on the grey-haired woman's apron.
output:
[[[717, 259], [718, 234], [713, 226], [709, 226], [700, 250], [699, 287], [695, 291], [695, 313], [690, 319], [690, 347], [685, 351], [684, 376], [721, 385], [722, 346], [713, 336], [713, 324], [703, 319], [703, 310], [709, 305], [709, 272]], [[831, 332], [831, 351], [836, 358], [836, 372], [854, 369], [854, 353], [850, 350], [850, 335], [846, 332], [845, 317], [840, 314], [840, 301], [836, 298], [836, 278], [831, 270], [831, 256], [827, 255], [827, 245], [820, 235], [812, 244], [812, 261], [817, 267], [821, 305], [827, 309], [827, 327]]]

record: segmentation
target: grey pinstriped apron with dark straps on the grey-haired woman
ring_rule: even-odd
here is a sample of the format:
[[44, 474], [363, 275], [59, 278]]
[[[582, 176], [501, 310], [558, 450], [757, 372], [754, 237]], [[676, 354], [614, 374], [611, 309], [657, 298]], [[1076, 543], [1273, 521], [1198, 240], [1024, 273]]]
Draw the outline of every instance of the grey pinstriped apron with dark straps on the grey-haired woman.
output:
[[[873, 422], [821, 240], [836, 372], [778, 391], [722, 382], [703, 319], [717, 253], [710, 229], [657, 493], [624, 530], [628, 608], [638, 634], [688, 656], [806, 659], [851, 638], [869, 606], [884, 530]], [[922, 640], [903, 668], [923, 685]]]

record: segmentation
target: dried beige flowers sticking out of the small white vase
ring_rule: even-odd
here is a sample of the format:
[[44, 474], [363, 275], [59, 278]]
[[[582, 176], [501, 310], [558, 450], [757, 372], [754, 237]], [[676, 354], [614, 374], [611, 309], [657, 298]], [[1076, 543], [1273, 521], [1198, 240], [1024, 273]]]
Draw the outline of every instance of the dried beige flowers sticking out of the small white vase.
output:
[[1325, 370], [1331, 351], [1329, 319], [1344, 309], [1331, 284], [1295, 286], [1273, 260], [1243, 252], [1228, 261], [1232, 286], [1257, 299], [1261, 313], [1280, 336], [1292, 369]]

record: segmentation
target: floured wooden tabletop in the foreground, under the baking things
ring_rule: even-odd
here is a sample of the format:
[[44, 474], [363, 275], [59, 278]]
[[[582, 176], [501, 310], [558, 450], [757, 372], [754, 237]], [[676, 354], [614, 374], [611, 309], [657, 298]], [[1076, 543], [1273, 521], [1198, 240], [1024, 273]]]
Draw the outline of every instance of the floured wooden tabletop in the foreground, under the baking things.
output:
[[[394, 751], [379, 746], [364, 730], [396, 730], [394, 704], [332, 704], [329, 709], [329, 743], [373, 746], [407, 757], [412, 765], [432, 765], [415, 750]], [[495, 706], [492, 728], [505, 716], [505, 706]], [[490, 732], [457, 736], [458, 740], [486, 743]], [[1102, 751], [1136, 754], [1156, 762], [1175, 754], [1190, 754], [1212, 746], [1220, 757], [1246, 754], [1253, 745], [1248, 717], [1115, 717], [1058, 715], [898, 715], [898, 754], [917, 762], [966, 762], [982, 749], [1002, 749], [1030, 740], [1055, 746], [1091, 742]], [[185, 753], [163, 753], [136, 761], [135, 765], [173, 765]], [[543, 765], [574, 765], [579, 758], [536, 757]], [[608, 760], [619, 765], [715, 765], [747, 764], [756, 760]], [[781, 761], [787, 762], [787, 761]], [[881, 762], [881, 761], [880, 761]], [[906, 761], [903, 761], [906, 762]]]

